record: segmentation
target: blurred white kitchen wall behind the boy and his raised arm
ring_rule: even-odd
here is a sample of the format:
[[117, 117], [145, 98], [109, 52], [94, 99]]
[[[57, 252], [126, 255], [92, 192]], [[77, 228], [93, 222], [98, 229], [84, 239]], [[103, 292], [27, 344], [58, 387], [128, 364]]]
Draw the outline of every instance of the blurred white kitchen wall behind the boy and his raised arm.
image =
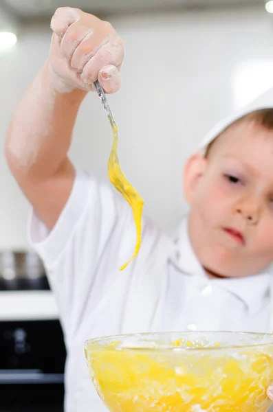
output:
[[[273, 17], [262, 10], [123, 16], [112, 19], [127, 46], [123, 88], [110, 96], [120, 128], [120, 161], [171, 230], [186, 210], [182, 166], [202, 135], [234, 106], [273, 84]], [[48, 27], [25, 30], [0, 54], [0, 138], [15, 104], [47, 56]], [[63, 119], [65, 122], [65, 119]], [[96, 95], [78, 117], [72, 159], [107, 179], [111, 130]], [[28, 203], [0, 153], [0, 249], [27, 247]]]

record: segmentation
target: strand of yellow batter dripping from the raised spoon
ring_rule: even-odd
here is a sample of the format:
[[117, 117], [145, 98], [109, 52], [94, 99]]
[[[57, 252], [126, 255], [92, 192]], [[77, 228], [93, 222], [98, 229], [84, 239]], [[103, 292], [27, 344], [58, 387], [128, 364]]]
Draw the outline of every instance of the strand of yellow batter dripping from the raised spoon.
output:
[[135, 190], [135, 187], [131, 185], [129, 180], [124, 176], [120, 168], [120, 163], [118, 162], [118, 128], [113, 126], [113, 146], [111, 154], [108, 161], [108, 173], [111, 183], [116, 187], [116, 190], [122, 194], [124, 199], [129, 203], [133, 210], [133, 220], [135, 221], [136, 229], [136, 242], [135, 242], [135, 251], [133, 256], [124, 264], [120, 271], [123, 271], [124, 268], [135, 258], [140, 250], [141, 244], [141, 231], [142, 231], [142, 209], [144, 201], [140, 194]]

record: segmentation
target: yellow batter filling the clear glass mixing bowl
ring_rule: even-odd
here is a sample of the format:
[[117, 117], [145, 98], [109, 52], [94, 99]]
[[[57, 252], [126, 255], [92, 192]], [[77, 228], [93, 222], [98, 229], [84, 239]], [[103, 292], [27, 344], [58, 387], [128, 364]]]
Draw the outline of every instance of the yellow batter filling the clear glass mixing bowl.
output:
[[109, 411], [267, 411], [272, 347], [198, 353], [190, 341], [184, 344], [184, 352], [86, 347], [91, 377]]

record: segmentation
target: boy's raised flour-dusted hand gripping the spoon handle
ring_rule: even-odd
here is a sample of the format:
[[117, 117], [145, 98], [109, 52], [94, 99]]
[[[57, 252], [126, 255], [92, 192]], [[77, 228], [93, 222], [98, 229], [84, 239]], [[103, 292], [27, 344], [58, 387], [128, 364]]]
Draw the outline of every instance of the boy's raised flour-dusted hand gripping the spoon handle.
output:
[[124, 45], [110, 23], [76, 8], [58, 8], [52, 17], [49, 72], [55, 89], [68, 93], [94, 88], [99, 80], [107, 93], [120, 89]]

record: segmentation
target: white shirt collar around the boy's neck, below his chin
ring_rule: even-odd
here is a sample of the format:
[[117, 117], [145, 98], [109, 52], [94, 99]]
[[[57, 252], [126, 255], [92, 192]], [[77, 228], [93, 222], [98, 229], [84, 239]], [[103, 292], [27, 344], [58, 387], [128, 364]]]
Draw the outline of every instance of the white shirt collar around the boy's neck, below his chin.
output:
[[186, 275], [192, 275], [206, 279], [219, 288], [228, 290], [243, 301], [250, 314], [259, 312], [265, 304], [266, 297], [270, 295], [272, 283], [272, 271], [265, 269], [262, 273], [248, 277], [236, 277], [228, 279], [208, 279], [204, 268], [201, 266], [188, 236], [188, 218], [183, 218], [174, 240], [175, 247], [171, 255], [171, 262]]

